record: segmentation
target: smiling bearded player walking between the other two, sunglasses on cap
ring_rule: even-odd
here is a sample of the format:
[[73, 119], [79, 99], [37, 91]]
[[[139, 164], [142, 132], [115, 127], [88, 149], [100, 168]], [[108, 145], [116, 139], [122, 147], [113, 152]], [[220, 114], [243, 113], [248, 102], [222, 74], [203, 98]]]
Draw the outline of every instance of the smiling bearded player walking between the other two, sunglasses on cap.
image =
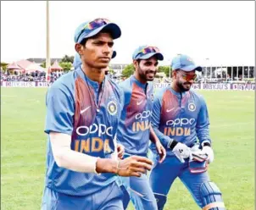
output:
[[[159, 60], [163, 60], [164, 56], [157, 47], [141, 46], [133, 53], [132, 59], [135, 67], [134, 75], [120, 82], [120, 87], [125, 95], [125, 106], [121, 112], [117, 138], [120, 144], [125, 146], [124, 157], [131, 157], [131, 155], [147, 157], [150, 139], [155, 145], [161, 163], [166, 152], [151, 127], [153, 85], [148, 81], [154, 79]], [[120, 180], [131, 196], [136, 210], [157, 209], [157, 203], [146, 174], [142, 174], [141, 177], [127, 177]], [[129, 196], [125, 196], [125, 208], [129, 201]]]

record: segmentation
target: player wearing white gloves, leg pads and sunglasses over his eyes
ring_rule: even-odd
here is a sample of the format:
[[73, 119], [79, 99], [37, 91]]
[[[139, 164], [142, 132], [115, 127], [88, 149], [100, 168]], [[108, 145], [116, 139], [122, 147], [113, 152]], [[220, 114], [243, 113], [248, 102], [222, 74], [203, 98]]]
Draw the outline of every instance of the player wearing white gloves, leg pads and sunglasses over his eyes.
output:
[[[153, 102], [153, 130], [166, 149], [164, 163], [159, 164], [152, 144], [153, 170], [150, 185], [159, 210], [164, 209], [170, 186], [179, 177], [203, 210], [224, 210], [220, 189], [211, 182], [207, 163], [214, 160], [209, 136], [209, 114], [202, 96], [191, 90], [196, 70], [202, 68], [186, 55], [173, 58], [173, 82], [158, 91]], [[194, 151], [195, 146], [198, 149]], [[192, 157], [205, 157], [203, 162]], [[172, 198], [177, 199], [177, 198]]]

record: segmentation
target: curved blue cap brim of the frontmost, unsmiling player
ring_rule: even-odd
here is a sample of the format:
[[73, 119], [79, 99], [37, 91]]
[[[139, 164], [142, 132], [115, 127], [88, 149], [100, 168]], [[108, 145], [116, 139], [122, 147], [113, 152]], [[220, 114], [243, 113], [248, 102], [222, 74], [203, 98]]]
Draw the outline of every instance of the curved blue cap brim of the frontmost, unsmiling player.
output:
[[113, 39], [117, 39], [121, 36], [120, 27], [114, 23], [109, 23], [107, 25], [103, 25], [103, 26], [97, 28], [96, 30], [92, 30], [92, 32], [89, 34], [86, 34], [86, 32], [83, 32], [81, 34], [81, 36], [79, 37], [79, 40], [77, 41], [77, 43], [81, 43], [82, 40], [97, 35], [103, 29], [108, 30]]

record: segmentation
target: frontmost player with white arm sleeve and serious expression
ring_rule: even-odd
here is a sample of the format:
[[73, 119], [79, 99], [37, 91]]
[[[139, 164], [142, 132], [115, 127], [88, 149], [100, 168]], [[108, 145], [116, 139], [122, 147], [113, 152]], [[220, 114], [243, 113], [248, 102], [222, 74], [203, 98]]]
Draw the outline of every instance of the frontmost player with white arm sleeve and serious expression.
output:
[[146, 157], [118, 160], [116, 131], [123, 92], [105, 77], [120, 27], [108, 19], [86, 21], [75, 30], [82, 65], [47, 91], [47, 171], [42, 210], [123, 209], [120, 176], [151, 169]]

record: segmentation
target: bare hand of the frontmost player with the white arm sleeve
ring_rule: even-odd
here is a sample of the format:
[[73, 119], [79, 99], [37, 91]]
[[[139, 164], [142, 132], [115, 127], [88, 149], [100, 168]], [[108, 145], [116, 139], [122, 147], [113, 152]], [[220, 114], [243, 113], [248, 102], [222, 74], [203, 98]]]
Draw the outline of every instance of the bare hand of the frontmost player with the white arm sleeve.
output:
[[151, 170], [153, 162], [147, 157], [131, 156], [123, 160], [119, 160], [117, 173], [120, 176], [136, 176], [146, 174], [147, 170]]

